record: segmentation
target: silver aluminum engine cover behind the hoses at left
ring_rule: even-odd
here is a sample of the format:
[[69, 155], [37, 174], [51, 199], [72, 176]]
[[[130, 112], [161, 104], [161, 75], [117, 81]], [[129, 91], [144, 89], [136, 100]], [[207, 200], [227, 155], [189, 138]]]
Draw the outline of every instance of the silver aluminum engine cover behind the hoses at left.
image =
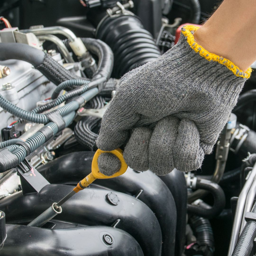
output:
[[[59, 53], [52, 58], [63, 65]], [[0, 65], [10, 69], [9, 76], [0, 79], [0, 93], [19, 108], [31, 111], [36, 107], [37, 102], [50, 97], [56, 87], [28, 62], [8, 60], [0, 61]], [[64, 64], [64, 67], [76, 72], [77, 75], [80, 73], [78, 63]], [[0, 120], [0, 129], [2, 129], [17, 118], [0, 108]], [[24, 124], [16, 125], [15, 128], [23, 131]]]

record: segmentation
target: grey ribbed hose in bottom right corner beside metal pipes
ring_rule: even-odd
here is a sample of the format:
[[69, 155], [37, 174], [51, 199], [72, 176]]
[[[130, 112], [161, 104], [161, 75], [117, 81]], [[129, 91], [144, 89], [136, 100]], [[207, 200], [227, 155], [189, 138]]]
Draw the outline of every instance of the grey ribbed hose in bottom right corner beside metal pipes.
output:
[[[256, 203], [251, 212], [256, 213]], [[250, 256], [256, 237], [256, 221], [247, 221], [232, 256]]]

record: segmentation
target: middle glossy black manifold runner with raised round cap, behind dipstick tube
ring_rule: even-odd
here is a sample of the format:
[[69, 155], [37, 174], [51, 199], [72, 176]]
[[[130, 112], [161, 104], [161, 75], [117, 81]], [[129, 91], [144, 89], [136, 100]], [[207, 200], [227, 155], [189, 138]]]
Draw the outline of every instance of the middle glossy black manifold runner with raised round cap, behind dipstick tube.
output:
[[[53, 202], [67, 195], [73, 186], [50, 184], [38, 194], [22, 195], [17, 192], [0, 201], [0, 209], [6, 212], [7, 223], [31, 221]], [[62, 213], [55, 219], [84, 225], [111, 226], [120, 219], [117, 228], [129, 233], [140, 244], [147, 256], [160, 256], [162, 235], [154, 213], [140, 200], [115, 192], [119, 204], [108, 203], [105, 189], [84, 189], [62, 205]]]

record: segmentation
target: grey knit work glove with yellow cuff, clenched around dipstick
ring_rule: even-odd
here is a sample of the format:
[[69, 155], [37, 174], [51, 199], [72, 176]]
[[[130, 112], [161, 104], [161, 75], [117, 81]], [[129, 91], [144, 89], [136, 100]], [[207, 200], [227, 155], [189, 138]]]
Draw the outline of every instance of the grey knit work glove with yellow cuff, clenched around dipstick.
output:
[[125, 145], [128, 166], [157, 175], [201, 167], [251, 69], [243, 72], [207, 52], [194, 40], [196, 29], [184, 26], [177, 45], [122, 77], [103, 116], [98, 148]]

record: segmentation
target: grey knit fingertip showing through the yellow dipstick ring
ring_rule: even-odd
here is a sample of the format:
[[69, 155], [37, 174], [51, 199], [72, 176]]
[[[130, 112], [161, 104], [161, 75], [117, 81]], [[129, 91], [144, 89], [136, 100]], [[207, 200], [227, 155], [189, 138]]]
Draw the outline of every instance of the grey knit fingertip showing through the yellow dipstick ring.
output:
[[119, 171], [121, 162], [114, 154], [102, 153], [98, 157], [98, 166], [101, 173], [111, 176]]

